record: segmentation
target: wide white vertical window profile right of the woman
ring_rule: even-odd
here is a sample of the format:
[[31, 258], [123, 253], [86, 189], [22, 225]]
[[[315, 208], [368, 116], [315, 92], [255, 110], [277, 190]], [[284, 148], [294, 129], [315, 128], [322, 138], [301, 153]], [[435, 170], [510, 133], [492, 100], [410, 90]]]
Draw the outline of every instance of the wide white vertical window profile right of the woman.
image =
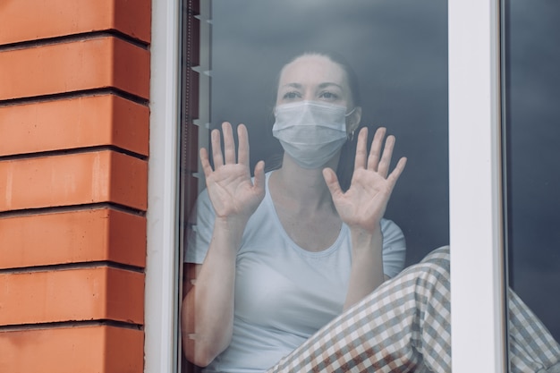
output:
[[450, 0], [452, 369], [507, 371], [499, 2]]

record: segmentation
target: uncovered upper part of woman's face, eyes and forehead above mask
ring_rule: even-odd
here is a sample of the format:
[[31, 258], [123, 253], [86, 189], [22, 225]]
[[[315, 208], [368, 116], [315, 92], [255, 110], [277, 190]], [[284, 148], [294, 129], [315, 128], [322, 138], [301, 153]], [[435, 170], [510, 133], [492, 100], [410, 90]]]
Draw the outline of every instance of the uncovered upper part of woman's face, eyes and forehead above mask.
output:
[[343, 68], [324, 55], [303, 55], [280, 74], [276, 106], [297, 101], [322, 101], [352, 110]]

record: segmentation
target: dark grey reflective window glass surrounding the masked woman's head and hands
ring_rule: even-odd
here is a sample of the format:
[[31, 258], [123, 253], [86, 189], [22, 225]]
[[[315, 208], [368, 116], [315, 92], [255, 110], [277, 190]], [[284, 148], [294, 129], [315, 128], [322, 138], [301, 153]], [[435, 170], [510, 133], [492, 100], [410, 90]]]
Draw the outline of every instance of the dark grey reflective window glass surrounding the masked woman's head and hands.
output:
[[394, 159], [409, 159], [386, 211], [403, 230], [406, 264], [449, 242], [445, 3], [185, 1], [183, 17], [181, 226], [204, 188], [197, 155], [208, 131], [245, 123], [250, 169], [260, 159], [274, 168], [280, 69], [305, 51], [335, 51], [359, 77], [361, 123], [386, 126]]

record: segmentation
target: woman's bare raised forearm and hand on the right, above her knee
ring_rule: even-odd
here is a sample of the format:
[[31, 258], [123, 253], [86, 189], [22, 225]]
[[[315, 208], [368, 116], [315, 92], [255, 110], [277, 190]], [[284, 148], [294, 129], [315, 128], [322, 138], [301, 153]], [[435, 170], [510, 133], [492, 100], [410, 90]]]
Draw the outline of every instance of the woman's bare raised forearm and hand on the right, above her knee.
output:
[[368, 130], [361, 129], [354, 173], [348, 191], [343, 192], [340, 189], [333, 170], [327, 168], [323, 171], [336, 211], [350, 227], [351, 232], [352, 269], [344, 309], [360, 301], [386, 280], [380, 222], [395, 183], [403, 172], [406, 158], [401, 158], [395, 170], [391, 174], [388, 173], [395, 137], [387, 138], [381, 154], [385, 134], [385, 128], [376, 131], [368, 155]]

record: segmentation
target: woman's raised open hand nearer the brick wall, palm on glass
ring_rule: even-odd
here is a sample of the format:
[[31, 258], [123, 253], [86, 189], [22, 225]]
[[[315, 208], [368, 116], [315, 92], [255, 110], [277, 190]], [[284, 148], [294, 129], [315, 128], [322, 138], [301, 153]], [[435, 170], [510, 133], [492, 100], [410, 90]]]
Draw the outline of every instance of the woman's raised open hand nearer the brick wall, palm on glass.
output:
[[208, 150], [200, 149], [200, 163], [206, 176], [208, 196], [216, 211], [216, 219], [238, 221], [245, 225], [265, 197], [265, 164], [259, 161], [255, 165], [255, 179], [252, 182], [247, 128], [243, 124], [237, 127], [239, 137], [237, 160], [232, 125], [227, 122], [222, 123], [222, 131], [224, 155], [222, 155], [220, 131], [211, 132], [214, 169], [208, 160]]

